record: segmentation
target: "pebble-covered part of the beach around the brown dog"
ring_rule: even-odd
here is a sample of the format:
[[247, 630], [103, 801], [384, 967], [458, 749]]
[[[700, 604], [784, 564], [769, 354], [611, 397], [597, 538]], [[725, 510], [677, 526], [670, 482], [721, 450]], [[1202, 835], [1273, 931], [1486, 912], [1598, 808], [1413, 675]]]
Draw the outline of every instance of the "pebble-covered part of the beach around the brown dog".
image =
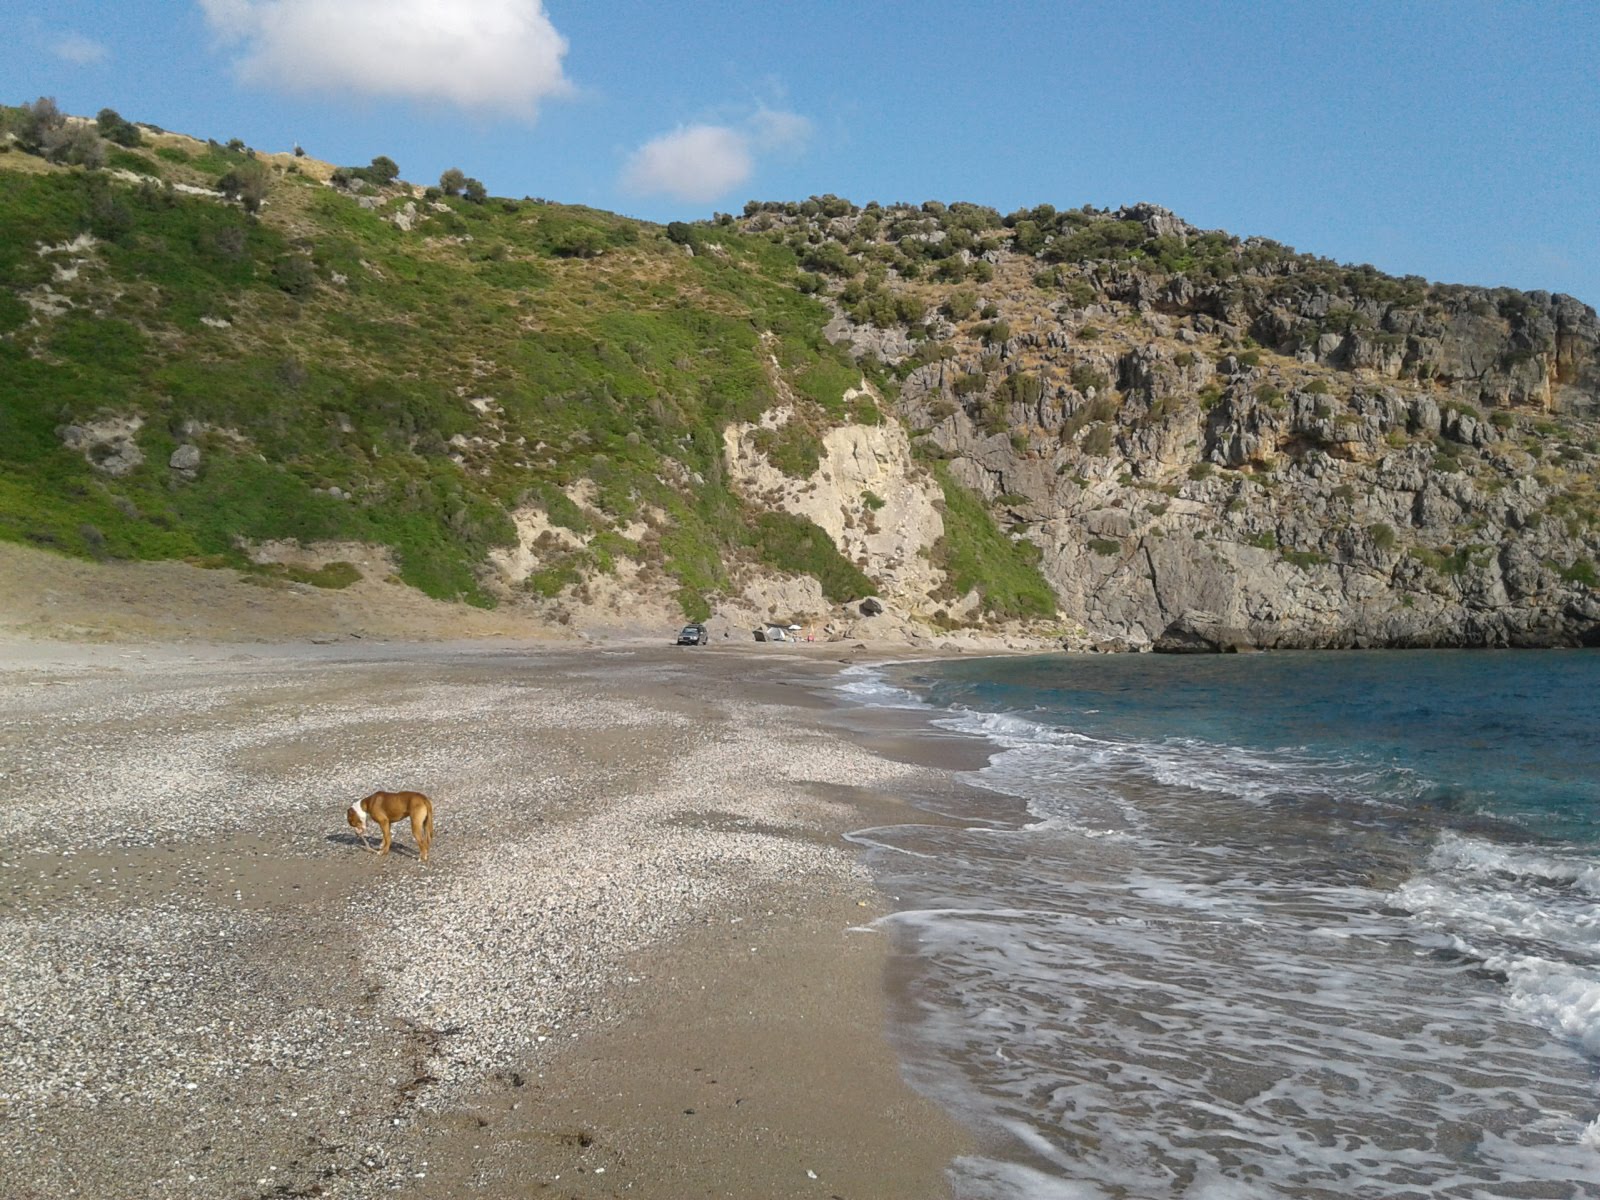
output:
[[[800, 696], [779, 674], [696, 650], [0, 661], [5, 1194], [421, 1186], [411, 1126], [613, 1019], [653, 947], [797, 888], [867, 904], [840, 789], [926, 773], [773, 702]], [[429, 864], [408, 826], [387, 859], [346, 827], [374, 789], [435, 798]]]

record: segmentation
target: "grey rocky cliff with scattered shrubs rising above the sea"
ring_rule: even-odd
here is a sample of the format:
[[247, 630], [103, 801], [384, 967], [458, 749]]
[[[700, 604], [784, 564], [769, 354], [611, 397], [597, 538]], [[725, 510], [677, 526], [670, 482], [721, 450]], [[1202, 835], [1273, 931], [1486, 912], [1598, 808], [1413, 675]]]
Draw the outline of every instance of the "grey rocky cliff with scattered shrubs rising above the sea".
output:
[[830, 336], [893, 370], [915, 445], [1038, 547], [1088, 642], [1194, 610], [1258, 646], [1597, 640], [1600, 325], [1568, 296], [1154, 206], [746, 219], [869, 264]]

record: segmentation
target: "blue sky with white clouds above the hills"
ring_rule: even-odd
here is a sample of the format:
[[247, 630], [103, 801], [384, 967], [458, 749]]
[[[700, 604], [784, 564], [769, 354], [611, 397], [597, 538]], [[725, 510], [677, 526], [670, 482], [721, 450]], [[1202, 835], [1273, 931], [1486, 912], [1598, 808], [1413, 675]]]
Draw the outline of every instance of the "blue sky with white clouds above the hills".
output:
[[0, 0], [0, 99], [656, 221], [1115, 206], [1600, 304], [1600, 3]]

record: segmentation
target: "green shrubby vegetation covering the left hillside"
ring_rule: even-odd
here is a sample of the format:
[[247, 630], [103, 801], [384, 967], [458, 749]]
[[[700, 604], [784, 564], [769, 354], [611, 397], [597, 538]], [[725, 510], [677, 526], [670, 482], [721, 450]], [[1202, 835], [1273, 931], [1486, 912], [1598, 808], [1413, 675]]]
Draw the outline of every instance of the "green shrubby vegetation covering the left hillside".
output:
[[[723, 472], [722, 429], [778, 398], [768, 360], [800, 405], [768, 435], [781, 469], [814, 470], [830, 424], [883, 419], [846, 405], [861, 370], [822, 338], [794, 248], [488, 197], [461, 171], [421, 195], [382, 155], [330, 187], [298, 155], [110, 110], [72, 126], [110, 138], [78, 157], [114, 154], [130, 182], [70, 165], [83, 146], [62, 150], [40, 106], [0, 110], [0, 538], [234, 566], [254, 541], [376, 542], [405, 582], [490, 605], [486, 555], [533, 504], [590, 539], [547, 555], [534, 594], [611, 570], [606, 539], [675, 581], [690, 616], [739, 560], [830, 598], [874, 590]], [[120, 453], [93, 440], [114, 419], [139, 422], [142, 461], [120, 474], [86, 461]], [[170, 466], [184, 446], [198, 464]], [[638, 522], [642, 541], [621, 538]]]

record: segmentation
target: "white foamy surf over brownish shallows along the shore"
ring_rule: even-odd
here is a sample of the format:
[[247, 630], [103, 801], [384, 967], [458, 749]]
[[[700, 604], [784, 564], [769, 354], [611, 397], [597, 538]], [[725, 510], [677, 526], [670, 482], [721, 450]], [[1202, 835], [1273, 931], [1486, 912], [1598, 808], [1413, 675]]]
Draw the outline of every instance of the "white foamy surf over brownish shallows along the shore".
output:
[[923, 962], [909, 1074], [1016, 1147], [960, 1200], [1600, 1197], [1594, 862], [1419, 866], [1371, 818], [1424, 782], [1358, 762], [939, 723], [1037, 818], [861, 835], [920, 854], [875, 859], [926, 898], [877, 925]]

